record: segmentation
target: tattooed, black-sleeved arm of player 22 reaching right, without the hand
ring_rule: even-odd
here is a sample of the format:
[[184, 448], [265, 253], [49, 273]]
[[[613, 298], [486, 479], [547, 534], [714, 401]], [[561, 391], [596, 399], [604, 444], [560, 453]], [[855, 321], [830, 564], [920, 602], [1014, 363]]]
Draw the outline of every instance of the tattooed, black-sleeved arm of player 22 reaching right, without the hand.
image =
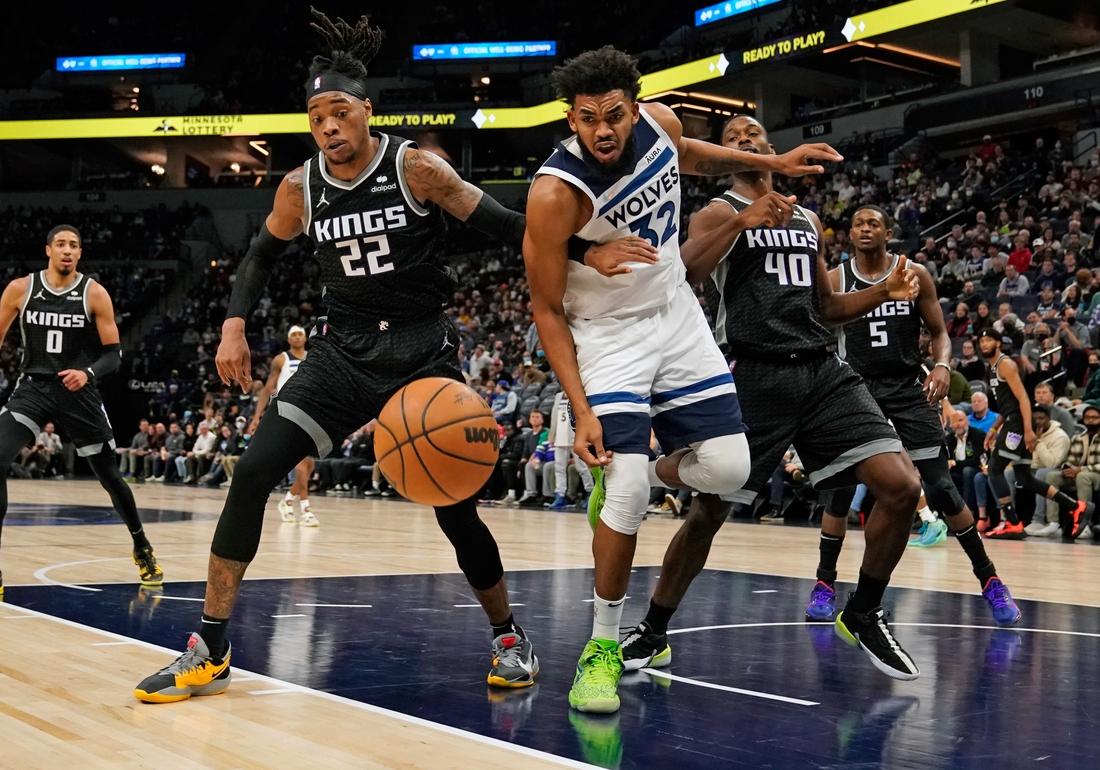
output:
[[519, 248], [526, 218], [504, 208], [492, 196], [463, 182], [451, 164], [426, 150], [409, 148], [403, 163], [409, 191], [418, 200], [430, 200], [466, 224]]

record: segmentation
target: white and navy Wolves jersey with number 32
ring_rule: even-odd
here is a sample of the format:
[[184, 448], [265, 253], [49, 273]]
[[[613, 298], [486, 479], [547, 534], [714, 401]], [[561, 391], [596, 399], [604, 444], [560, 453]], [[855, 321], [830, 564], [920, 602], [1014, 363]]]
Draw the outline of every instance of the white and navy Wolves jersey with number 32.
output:
[[605, 277], [579, 262], [569, 262], [565, 314], [574, 318], [630, 316], [672, 301], [684, 282], [680, 260], [680, 168], [676, 148], [657, 121], [640, 110], [634, 127], [638, 162], [618, 178], [608, 178], [585, 161], [580, 140], [566, 139], [538, 174], [564, 179], [592, 200], [592, 219], [578, 233], [586, 241], [608, 243], [637, 235], [658, 250], [652, 265], [630, 265], [632, 273]]

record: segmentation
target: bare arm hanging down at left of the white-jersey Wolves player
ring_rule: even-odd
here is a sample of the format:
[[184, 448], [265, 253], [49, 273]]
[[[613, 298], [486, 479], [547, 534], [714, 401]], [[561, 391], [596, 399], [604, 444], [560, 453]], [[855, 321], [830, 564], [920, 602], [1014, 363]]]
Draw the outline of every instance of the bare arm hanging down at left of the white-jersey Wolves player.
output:
[[584, 394], [573, 333], [569, 330], [563, 305], [568, 244], [578, 229], [580, 206], [569, 185], [557, 177], [542, 176], [531, 185], [527, 210], [524, 264], [539, 340], [573, 407], [576, 418], [574, 450], [588, 465], [606, 465], [610, 462], [610, 452], [604, 451], [603, 428]]

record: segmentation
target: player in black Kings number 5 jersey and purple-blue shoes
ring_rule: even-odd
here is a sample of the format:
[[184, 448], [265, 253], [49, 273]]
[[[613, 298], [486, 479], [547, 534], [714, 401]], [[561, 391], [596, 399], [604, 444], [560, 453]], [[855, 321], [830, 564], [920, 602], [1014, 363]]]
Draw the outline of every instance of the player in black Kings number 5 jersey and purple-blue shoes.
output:
[[[859, 292], [878, 285], [905, 257], [887, 252], [892, 234], [890, 216], [878, 206], [864, 206], [851, 217], [851, 242], [856, 254], [829, 273], [835, 292]], [[1020, 620], [1020, 609], [997, 568], [986, 554], [974, 515], [963, 502], [947, 466], [944, 431], [935, 404], [950, 385], [952, 341], [936, 299], [936, 285], [924, 265], [910, 264], [921, 282], [916, 301], [890, 300], [837, 329], [838, 354], [859, 374], [871, 396], [898, 431], [910, 459], [921, 472], [928, 505], [944, 515], [946, 525], [933, 519], [930, 528], [946, 526], [970, 558], [981, 593], [999, 626]], [[921, 323], [932, 337], [935, 364], [922, 376]], [[834, 620], [836, 616], [836, 562], [848, 527], [848, 506], [855, 487], [838, 490], [822, 519], [821, 561], [817, 583], [806, 607], [807, 620]]]

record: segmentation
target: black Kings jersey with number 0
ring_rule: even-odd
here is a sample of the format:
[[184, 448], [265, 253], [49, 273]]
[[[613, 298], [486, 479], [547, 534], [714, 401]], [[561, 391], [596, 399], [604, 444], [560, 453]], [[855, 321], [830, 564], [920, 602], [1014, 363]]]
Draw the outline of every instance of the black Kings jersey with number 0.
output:
[[61, 292], [46, 283], [45, 273], [28, 276], [26, 297], [19, 314], [23, 334], [23, 374], [53, 374], [85, 369], [102, 353], [99, 330], [88, 311], [91, 279], [82, 273]]

